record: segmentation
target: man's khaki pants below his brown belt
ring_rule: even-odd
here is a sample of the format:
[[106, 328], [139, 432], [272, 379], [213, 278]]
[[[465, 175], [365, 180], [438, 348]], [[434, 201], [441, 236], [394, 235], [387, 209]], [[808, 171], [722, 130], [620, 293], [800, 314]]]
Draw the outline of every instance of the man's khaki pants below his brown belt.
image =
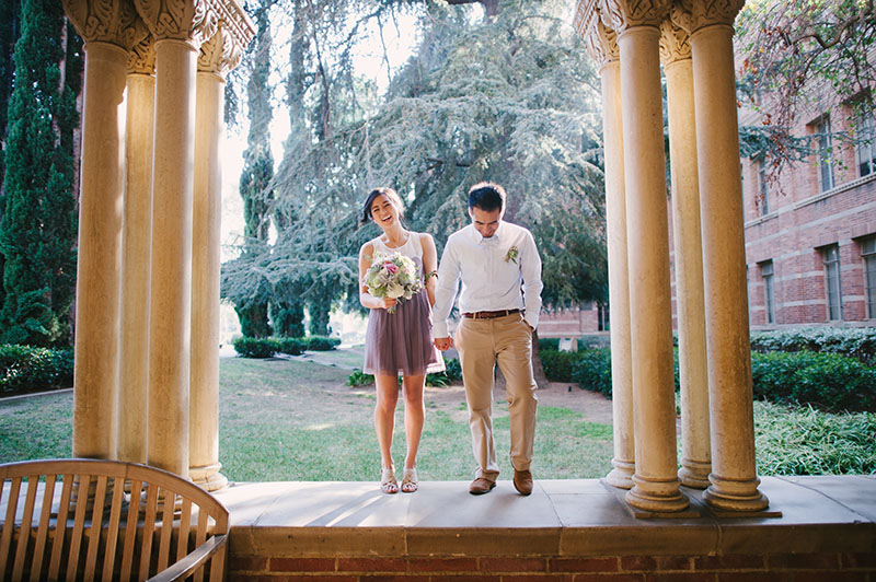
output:
[[535, 438], [535, 380], [532, 333], [519, 313], [493, 319], [463, 317], [456, 333], [462, 382], [469, 403], [469, 427], [477, 477], [495, 481], [499, 474], [493, 440], [493, 379], [496, 363], [506, 380], [511, 428], [511, 465], [529, 470]]

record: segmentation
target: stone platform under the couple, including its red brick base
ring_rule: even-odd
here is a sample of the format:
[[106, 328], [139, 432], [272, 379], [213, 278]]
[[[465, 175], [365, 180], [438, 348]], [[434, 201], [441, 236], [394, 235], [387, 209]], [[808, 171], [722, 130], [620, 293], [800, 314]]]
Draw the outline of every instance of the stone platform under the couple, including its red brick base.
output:
[[507, 480], [481, 497], [463, 481], [217, 496], [231, 511], [230, 580], [876, 581], [876, 476], [765, 477], [759, 516], [718, 517], [683, 490], [690, 512], [644, 519], [597, 479], [537, 480], [528, 498]]

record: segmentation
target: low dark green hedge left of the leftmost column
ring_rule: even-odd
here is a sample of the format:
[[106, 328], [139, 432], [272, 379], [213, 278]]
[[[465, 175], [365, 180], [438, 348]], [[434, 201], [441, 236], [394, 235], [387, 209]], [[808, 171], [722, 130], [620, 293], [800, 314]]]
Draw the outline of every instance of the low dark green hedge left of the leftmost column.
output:
[[0, 346], [0, 392], [72, 385], [72, 349]]

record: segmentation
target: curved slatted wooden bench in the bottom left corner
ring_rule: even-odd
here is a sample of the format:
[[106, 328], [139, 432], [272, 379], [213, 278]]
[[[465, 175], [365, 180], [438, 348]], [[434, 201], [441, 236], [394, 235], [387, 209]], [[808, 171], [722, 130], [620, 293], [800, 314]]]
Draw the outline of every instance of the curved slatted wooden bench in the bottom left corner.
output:
[[26, 461], [0, 465], [0, 581], [223, 578], [228, 510], [177, 475]]

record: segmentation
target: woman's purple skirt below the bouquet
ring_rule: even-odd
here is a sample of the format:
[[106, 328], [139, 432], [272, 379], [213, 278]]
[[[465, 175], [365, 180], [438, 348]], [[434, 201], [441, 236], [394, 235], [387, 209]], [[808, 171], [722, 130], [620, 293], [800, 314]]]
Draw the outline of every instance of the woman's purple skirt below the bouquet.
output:
[[411, 375], [440, 372], [445, 360], [431, 340], [431, 305], [426, 290], [395, 306], [371, 310], [365, 336], [366, 374]]

